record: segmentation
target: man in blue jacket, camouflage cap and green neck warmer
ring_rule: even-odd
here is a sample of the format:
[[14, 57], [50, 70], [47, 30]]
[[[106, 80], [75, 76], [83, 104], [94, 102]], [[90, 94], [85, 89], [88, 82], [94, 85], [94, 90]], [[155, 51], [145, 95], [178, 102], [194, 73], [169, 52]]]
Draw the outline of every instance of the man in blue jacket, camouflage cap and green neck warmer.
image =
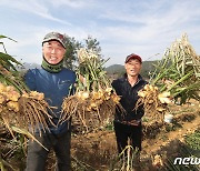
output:
[[[67, 37], [59, 32], [48, 33], [42, 41], [41, 69], [31, 69], [26, 74], [26, 83], [30, 90], [44, 93], [46, 100], [53, 109], [53, 123], [58, 124], [61, 104], [70, 88], [76, 82], [76, 73], [63, 68]], [[41, 137], [36, 131], [34, 137], [48, 149], [53, 149], [57, 157], [59, 171], [71, 170], [70, 143], [71, 120], [54, 127], [49, 123], [50, 131], [42, 132]], [[27, 171], [44, 171], [48, 152], [36, 141], [29, 141]]]

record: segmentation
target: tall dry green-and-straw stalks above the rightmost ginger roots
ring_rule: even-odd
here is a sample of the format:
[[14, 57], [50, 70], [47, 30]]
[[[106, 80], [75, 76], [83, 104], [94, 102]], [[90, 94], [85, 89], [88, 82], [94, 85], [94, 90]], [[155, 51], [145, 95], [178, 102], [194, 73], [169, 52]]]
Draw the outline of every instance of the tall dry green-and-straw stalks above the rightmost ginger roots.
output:
[[150, 82], [158, 86], [161, 92], [170, 91], [180, 104], [190, 99], [200, 100], [200, 57], [189, 43], [187, 34], [166, 50]]

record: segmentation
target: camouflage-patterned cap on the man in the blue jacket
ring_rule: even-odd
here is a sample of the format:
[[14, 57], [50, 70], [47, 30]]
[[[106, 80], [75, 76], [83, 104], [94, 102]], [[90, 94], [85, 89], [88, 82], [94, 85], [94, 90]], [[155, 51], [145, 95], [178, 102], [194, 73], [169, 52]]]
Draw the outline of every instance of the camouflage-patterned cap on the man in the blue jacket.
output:
[[63, 48], [66, 49], [66, 44], [67, 44], [67, 42], [68, 42], [68, 39], [67, 39], [67, 37], [66, 37], [64, 34], [61, 34], [61, 33], [59, 33], [59, 32], [49, 32], [49, 33], [46, 34], [46, 37], [43, 38], [42, 44], [43, 44], [44, 42], [50, 41], [50, 40], [57, 40], [57, 41], [59, 41], [59, 42], [63, 46]]

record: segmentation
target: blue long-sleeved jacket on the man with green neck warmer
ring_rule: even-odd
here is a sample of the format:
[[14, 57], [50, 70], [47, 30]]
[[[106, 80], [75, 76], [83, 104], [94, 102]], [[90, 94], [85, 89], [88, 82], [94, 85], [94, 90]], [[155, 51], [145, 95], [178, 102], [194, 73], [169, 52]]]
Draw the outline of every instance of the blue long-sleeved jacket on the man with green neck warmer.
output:
[[[53, 122], [57, 124], [61, 113], [63, 99], [73, 93], [76, 73], [63, 68], [60, 72], [48, 72], [44, 69], [31, 69], [26, 73], [26, 83], [32, 91], [44, 93], [46, 101], [53, 109]], [[59, 124], [58, 128], [49, 125], [54, 134], [66, 132], [70, 128], [70, 122]]]

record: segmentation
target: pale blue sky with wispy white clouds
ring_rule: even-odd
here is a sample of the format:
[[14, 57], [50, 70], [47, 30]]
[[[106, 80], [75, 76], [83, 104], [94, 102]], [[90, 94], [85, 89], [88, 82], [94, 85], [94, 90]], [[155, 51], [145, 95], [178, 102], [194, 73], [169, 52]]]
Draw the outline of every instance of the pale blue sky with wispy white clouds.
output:
[[107, 66], [123, 64], [132, 52], [161, 59], [184, 32], [199, 54], [199, 0], [1, 0], [0, 34], [18, 41], [3, 40], [23, 62], [40, 64], [44, 34], [59, 31], [79, 41], [97, 38]]

